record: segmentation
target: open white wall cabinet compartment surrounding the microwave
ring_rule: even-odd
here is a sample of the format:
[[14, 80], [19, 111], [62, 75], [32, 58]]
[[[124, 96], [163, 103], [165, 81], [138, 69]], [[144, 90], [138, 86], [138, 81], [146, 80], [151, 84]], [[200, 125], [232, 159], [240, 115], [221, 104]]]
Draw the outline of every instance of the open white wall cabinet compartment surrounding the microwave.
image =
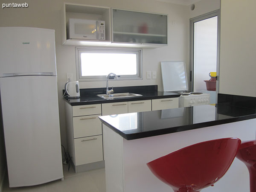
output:
[[[111, 44], [111, 9], [110, 7], [100, 7], [100, 6], [89, 6], [89, 5], [80, 5], [80, 4], [73, 4], [73, 3], [64, 3], [62, 13], [62, 44], [64, 45], [86, 45], [86, 46], [104, 46]], [[69, 30], [68, 30], [68, 22], [69, 19], [79, 19], [81, 20], [101, 20], [105, 21], [105, 40], [96, 40], [88, 38], [84, 35], [84, 37], [70, 37]], [[96, 33], [96, 28], [93, 27], [91, 23], [75, 23], [76, 28], [74, 32], [76, 34], [82, 33], [81, 31], [86, 31], [85, 33], [93, 35]], [[96, 22], [95, 22], [96, 23]], [[86, 27], [89, 26], [89, 27]], [[70, 26], [71, 27], [71, 26]], [[89, 31], [91, 29], [91, 31]], [[86, 35], [87, 35], [86, 34]], [[89, 35], [88, 35], [89, 36]], [[96, 35], [95, 35], [96, 36]], [[98, 39], [98, 38], [97, 38]]]

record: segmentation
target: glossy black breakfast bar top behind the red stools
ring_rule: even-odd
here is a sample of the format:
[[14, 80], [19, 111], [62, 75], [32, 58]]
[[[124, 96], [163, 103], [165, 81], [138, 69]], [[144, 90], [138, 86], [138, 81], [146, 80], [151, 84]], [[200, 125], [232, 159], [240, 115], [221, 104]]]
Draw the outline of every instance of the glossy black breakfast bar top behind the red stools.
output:
[[[99, 117], [103, 124], [126, 140], [176, 133], [254, 118], [256, 118], [256, 110], [253, 108], [221, 104]], [[119, 121], [122, 121], [122, 123], [119, 123]]]

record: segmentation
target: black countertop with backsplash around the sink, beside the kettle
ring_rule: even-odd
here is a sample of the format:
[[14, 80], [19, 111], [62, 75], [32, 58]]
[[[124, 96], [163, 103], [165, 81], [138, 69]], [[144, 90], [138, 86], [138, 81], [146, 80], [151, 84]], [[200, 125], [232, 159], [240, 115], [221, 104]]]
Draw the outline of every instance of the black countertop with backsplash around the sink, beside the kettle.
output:
[[101, 103], [140, 101], [147, 99], [163, 99], [179, 97], [180, 94], [157, 91], [157, 85], [132, 86], [132, 87], [114, 87], [114, 93], [136, 93], [142, 96], [125, 98], [125, 99], [103, 99], [97, 95], [106, 94], [106, 88], [80, 89], [79, 99], [70, 99], [65, 97], [64, 100], [72, 106], [91, 105]]

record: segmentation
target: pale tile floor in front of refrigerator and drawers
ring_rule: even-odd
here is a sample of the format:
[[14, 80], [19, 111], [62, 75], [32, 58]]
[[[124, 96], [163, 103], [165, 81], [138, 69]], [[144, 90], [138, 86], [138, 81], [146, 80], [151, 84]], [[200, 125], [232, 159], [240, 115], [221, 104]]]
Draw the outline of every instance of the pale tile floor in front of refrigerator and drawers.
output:
[[75, 173], [67, 165], [63, 166], [64, 181], [56, 180], [49, 183], [9, 188], [6, 178], [3, 192], [106, 192], [105, 169], [96, 169], [88, 172]]

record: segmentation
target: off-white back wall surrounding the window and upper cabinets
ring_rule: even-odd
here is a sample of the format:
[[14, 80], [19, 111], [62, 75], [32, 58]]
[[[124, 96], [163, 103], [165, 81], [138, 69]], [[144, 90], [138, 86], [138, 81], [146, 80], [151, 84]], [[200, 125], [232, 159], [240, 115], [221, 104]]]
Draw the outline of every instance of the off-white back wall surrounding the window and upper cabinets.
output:
[[[61, 143], [66, 146], [62, 89], [67, 80], [66, 73], [73, 73], [73, 78], [76, 77], [76, 58], [74, 46], [61, 45], [61, 8], [63, 2], [64, 0], [26, 0], [26, 3], [29, 4], [28, 8], [2, 9], [2, 3], [10, 3], [10, 1], [1, 0], [0, 26], [27, 26], [55, 29]], [[157, 84], [159, 90], [163, 90], [160, 61], [185, 61], [188, 64], [189, 13], [187, 6], [154, 0], [65, 0], [65, 2], [157, 12], [169, 15], [169, 46], [157, 49], [143, 49], [143, 80], [111, 81], [111, 86]], [[24, 0], [16, 0], [15, 3], [24, 3]], [[175, 24], [172, 24], [172, 21], [175, 21]], [[157, 71], [157, 79], [145, 79], [146, 71]], [[80, 88], [105, 87], [105, 81], [80, 82], [79, 85]]]

